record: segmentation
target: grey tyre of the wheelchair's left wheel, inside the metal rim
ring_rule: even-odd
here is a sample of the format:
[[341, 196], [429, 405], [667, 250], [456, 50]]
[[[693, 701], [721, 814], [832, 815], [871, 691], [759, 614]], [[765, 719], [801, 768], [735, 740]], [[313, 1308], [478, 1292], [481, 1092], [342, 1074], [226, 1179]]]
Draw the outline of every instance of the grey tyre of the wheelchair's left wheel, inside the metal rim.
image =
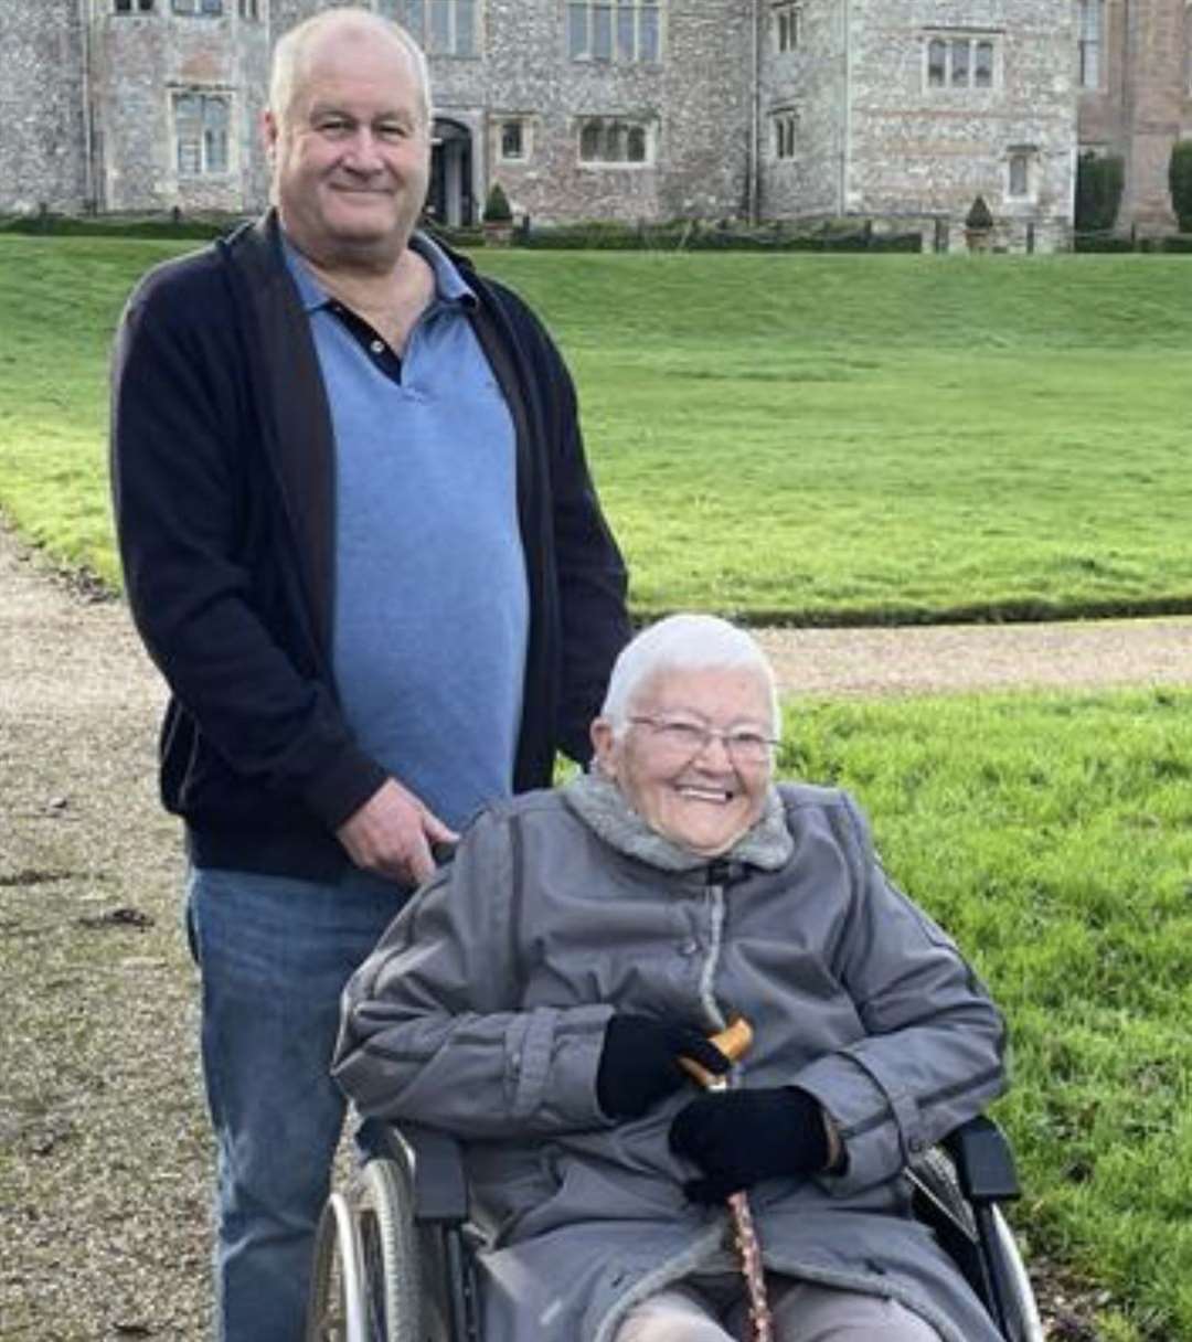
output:
[[423, 1342], [419, 1239], [407, 1172], [396, 1161], [368, 1161], [354, 1181], [353, 1202], [369, 1342]]

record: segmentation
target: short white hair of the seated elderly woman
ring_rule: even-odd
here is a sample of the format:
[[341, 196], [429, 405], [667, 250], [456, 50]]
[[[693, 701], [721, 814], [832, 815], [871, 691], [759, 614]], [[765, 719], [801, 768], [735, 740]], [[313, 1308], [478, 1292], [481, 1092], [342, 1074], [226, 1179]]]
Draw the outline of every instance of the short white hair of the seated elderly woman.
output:
[[771, 729], [780, 735], [779, 687], [769, 659], [750, 633], [715, 615], [670, 615], [627, 643], [613, 663], [600, 717], [620, 733], [638, 695], [663, 671], [725, 668], [757, 672], [769, 694]]

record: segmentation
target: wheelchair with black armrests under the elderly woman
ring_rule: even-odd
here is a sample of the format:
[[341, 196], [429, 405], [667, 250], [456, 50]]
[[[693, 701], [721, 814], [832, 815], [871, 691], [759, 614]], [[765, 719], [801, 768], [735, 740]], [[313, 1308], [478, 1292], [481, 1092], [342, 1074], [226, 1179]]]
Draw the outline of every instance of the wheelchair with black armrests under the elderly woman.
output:
[[[319, 1221], [306, 1342], [481, 1342], [475, 1253], [456, 1141], [366, 1119], [360, 1165]], [[1005, 1342], [1044, 1342], [1000, 1204], [1019, 1196], [1009, 1146], [980, 1117], [910, 1168], [936, 1232]]]

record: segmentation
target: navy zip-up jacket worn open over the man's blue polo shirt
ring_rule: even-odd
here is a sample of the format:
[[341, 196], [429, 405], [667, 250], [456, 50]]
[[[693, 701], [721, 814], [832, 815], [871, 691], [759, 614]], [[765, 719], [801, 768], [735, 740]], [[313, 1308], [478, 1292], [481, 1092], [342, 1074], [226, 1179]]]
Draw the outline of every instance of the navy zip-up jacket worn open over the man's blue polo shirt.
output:
[[[630, 632], [626, 570], [562, 360], [525, 303], [452, 259], [517, 429], [530, 592], [521, 792], [549, 784], [557, 749], [588, 757]], [[129, 604], [170, 688], [161, 796], [185, 819], [192, 859], [332, 879], [348, 864], [336, 828], [387, 774], [336, 692], [334, 440], [272, 212], [133, 291], [114, 357], [111, 478]]]

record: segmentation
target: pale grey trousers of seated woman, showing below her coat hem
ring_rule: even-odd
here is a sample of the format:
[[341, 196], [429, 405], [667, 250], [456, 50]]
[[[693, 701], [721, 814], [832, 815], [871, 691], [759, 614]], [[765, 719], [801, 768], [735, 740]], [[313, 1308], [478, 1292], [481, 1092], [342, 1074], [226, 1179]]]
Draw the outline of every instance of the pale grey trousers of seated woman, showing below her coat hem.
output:
[[[769, 1303], [777, 1342], [940, 1342], [917, 1314], [877, 1295], [775, 1278]], [[616, 1342], [736, 1342], [745, 1335], [745, 1315], [740, 1280], [685, 1282], [631, 1310]]]

